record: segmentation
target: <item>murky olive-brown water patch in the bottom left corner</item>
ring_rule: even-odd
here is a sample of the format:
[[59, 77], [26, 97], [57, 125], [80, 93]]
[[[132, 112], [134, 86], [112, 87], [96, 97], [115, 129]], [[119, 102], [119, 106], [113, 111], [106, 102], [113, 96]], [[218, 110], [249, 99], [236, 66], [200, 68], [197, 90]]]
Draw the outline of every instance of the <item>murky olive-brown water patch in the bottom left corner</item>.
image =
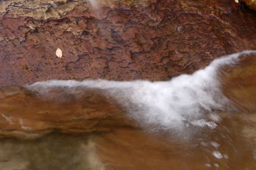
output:
[[105, 170], [93, 136], [54, 133], [36, 140], [0, 140], [1, 170]]

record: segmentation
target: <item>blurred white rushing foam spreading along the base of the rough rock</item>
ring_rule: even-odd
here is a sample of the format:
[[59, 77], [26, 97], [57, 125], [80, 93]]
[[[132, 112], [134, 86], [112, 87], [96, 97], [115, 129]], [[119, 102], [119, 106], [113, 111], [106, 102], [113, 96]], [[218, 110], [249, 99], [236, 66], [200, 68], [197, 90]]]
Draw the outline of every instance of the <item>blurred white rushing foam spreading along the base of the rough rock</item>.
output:
[[63, 88], [65, 93], [80, 97], [86, 89], [101, 90], [126, 108], [128, 116], [142, 126], [153, 130], [173, 130], [184, 128], [214, 129], [219, 121], [214, 109], [222, 110], [229, 102], [220, 91], [218, 68], [239, 61], [241, 54], [256, 53], [243, 51], [215, 59], [208, 67], [195, 71], [192, 75], [182, 74], [170, 81], [117, 82], [107, 80], [50, 80], [28, 85], [26, 88], [43, 95], [52, 88]]

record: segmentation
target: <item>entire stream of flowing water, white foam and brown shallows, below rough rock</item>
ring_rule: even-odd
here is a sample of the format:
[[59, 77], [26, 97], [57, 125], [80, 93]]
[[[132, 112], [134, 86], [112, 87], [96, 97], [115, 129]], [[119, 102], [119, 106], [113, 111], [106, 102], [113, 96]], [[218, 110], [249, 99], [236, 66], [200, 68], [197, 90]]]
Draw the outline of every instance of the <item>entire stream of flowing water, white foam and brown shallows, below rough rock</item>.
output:
[[0, 170], [255, 170], [256, 51], [166, 82], [0, 91]]

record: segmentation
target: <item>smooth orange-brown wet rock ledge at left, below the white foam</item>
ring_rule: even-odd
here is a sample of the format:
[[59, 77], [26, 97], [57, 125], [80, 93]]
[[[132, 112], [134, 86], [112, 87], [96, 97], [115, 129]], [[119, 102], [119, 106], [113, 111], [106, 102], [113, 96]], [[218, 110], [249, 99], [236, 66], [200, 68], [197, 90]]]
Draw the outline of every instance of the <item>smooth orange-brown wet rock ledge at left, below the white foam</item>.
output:
[[[82, 94], [82, 93], [81, 93]], [[50, 132], [80, 134], [136, 127], [124, 110], [99, 90], [85, 90], [78, 98], [52, 89], [43, 96], [23, 87], [0, 90], [0, 137], [34, 139]]]

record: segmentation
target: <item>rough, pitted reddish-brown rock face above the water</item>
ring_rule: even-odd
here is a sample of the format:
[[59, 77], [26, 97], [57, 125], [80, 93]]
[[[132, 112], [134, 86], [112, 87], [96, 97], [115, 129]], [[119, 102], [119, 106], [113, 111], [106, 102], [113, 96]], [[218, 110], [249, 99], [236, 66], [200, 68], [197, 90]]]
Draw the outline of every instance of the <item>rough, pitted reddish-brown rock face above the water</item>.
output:
[[[0, 85], [168, 80], [256, 49], [256, 13], [234, 0], [0, 1]], [[62, 58], [55, 54], [57, 48]]]

